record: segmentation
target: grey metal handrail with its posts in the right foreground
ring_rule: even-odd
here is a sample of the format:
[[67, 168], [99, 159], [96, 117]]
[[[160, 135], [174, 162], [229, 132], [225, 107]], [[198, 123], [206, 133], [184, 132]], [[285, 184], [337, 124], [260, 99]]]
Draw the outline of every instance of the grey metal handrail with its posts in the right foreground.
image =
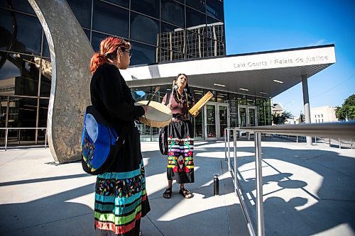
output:
[[[231, 147], [230, 137], [233, 132], [233, 149], [234, 149], [234, 164], [231, 168]], [[239, 187], [237, 178], [237, 156], [236, 156], [236, 133], [246, 131], [254, 134], [255, 147], [255, 162], [256, 162], [256, 227], [257, 232], [251, 223], [250, 214], [244, 203], [244, 197]], [[247, 227], [250, 235], [265, 235], [264, 213], [263, 213], [263, 181], [261, 170], [261, 133], [264, 134], [279, 134], [279, 135], [303, 135], [311, 137], [334, 137], [334, 138], [350, 138], [355, 137], [355, 123], [320, 123], [320, 124], [297, 124], [297, 125], [269, 125], [247, 128], [225, 128], [224, 129], [224, 147], [225, 158], [228, 161], [228, 170], [231, 172], [234, 181], [234, 193], [239, 197], [241, 209], [243, 210], [246, 219]]]

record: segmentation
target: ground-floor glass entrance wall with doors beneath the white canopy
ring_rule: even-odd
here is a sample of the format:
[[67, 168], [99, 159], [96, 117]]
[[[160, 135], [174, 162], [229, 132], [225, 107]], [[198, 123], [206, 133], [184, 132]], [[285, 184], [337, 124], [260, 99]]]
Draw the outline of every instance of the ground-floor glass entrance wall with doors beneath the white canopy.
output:
[[[159, 85], [160, 89], [152, 101], [161, 102], [165, 94], [170, 94], [172, 85]], [[195, 128], [195, 140], [224, 140], [224, 128], [271, 125], [271, 100], [269, 98], [247, 96], [226, 91], [203, 89], [190, 86], [195, 101], [211, 91], [214, 96], [197, 117], [190, 118]], [[155, 86], [131, 88], [136, 101], [149, 100]], [[142, 141], [158, 141], [158, 128], [141, 124]]]

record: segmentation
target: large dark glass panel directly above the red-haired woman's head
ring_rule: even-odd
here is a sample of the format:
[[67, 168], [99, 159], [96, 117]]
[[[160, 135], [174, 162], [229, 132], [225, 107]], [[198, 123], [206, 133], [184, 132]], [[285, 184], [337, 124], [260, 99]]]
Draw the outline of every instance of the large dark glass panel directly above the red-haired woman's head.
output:
[[129, 11], [119, 6], [95, 1], [92, 28], [102, 33], [128, 38]]

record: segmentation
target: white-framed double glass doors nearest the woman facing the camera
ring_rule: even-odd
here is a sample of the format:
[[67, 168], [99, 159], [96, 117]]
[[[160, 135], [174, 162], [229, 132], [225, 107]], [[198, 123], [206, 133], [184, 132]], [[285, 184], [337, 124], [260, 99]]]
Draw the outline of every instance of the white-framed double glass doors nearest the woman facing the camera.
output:
[[209, 102], [204, 106], [204, 140], [224, 140], [229, 127], [229, 104]]

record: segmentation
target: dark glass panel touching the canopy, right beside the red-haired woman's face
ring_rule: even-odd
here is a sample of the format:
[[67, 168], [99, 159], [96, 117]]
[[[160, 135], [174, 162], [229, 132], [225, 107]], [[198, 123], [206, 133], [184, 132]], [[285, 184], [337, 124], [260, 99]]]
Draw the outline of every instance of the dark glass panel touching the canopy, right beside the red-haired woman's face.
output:
[[131, 65], [133, 64], [153, 64], [156, 62], [156, 47], [144, 45], [141, 43], [132, 44], [132, 57], [131, 57]]

